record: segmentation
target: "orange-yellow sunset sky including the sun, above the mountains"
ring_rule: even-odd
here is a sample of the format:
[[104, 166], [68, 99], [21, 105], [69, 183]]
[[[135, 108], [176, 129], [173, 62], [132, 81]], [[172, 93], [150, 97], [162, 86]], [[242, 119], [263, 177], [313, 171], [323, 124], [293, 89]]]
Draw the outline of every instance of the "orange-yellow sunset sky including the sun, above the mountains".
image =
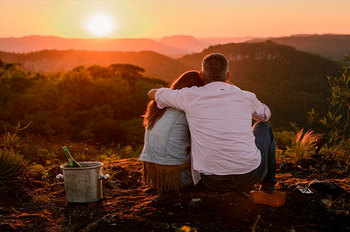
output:
[[0, 37], [350, 34], [349, 0], [0, 0]]

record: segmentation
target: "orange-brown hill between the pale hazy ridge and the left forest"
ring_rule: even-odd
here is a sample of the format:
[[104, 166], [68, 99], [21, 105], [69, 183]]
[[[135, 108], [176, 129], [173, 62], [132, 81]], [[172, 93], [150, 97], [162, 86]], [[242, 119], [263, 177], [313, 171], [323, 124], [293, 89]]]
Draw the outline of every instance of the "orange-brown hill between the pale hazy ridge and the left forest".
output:
[[96, 52], [44, 50], [25, 54], [0, 52], [5, 62], [20, 63], [21, 67], [33, 72], [66, 72], [84, 65], [109, 66], [115, 63], [134, 64], [144, 68], [145, 75], [172, 81], [190, 66], [165, 55], [152, 51], [142, 52]]

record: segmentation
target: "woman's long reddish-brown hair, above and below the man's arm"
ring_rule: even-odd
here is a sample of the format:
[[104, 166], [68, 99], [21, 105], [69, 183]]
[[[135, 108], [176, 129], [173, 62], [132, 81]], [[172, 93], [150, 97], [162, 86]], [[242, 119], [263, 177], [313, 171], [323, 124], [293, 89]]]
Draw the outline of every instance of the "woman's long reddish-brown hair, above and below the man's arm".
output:
[[[198, 71], [188, 71], [183, 73], [178, 77], [170, 86], [171, 89], [182, 89], [185, 87], [193, 86], [203, 86], [204, 82], [201, 79]], [[158, 109], [157, 103], [154, 100], [151, 100], [148, 103], [146, 113], [143, 118], [143, 126], [147, 129], [152, 129], [154, 124], [160, 119], [166, 108]]]

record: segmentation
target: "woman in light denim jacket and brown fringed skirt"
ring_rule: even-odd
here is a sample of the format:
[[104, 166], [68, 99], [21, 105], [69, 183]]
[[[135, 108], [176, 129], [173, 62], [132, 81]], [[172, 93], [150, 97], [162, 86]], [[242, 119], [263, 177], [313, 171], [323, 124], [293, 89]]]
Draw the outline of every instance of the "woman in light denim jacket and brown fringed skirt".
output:
[[[198, 71], [188, 71], [170, 88], [200, 87], [204, 82]], [[183, 111], [158, 109], [150, 101], [144, 115], [145, 144], [139, 157], [144, 162], [143, 180], [157, 190], [180, 190], [192, 185], [191, 139]]]

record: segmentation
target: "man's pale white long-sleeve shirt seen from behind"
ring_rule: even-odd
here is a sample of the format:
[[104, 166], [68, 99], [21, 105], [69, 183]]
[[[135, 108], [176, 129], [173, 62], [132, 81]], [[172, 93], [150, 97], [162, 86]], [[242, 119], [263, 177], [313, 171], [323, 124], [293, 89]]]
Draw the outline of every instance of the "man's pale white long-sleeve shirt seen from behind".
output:
[[252, 118], [268, 121], [270, 109], [254, 93], [225, 82], [155, 94], [158, 108], [183, 110], [191, 132], [193, 181], [207, 175], [245, 174], [260, 165]]

